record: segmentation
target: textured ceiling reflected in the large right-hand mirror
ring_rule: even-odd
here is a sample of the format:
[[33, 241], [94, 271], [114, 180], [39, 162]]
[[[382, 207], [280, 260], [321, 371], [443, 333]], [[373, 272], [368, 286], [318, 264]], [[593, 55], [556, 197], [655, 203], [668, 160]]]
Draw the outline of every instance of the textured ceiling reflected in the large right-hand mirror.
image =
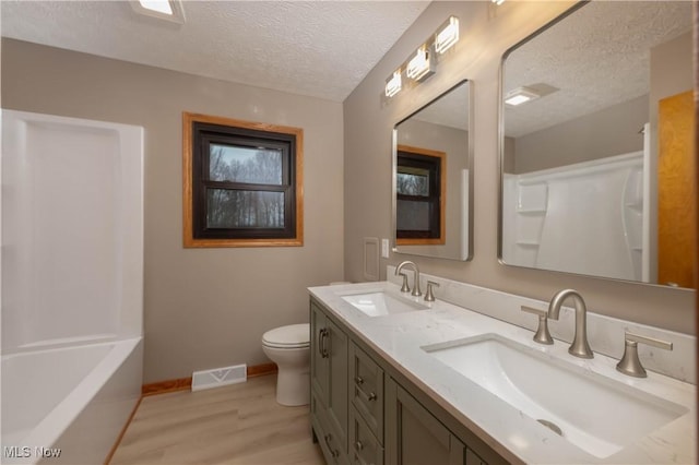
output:
[[[593, 1], [516, 49], [503, 92], [555, 87], [505, 109], [520, 136], [649, 93], [650, 49], [691, 31], [690, 1]], [[687, 57], [691, 60], [691, 57]]]

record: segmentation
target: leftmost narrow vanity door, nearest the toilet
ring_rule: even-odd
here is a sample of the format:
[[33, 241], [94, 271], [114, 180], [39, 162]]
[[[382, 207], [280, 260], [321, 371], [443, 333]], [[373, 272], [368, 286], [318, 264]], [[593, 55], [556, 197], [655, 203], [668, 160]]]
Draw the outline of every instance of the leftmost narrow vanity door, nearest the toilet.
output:
[[310, 381], [311, 389], [323, 406], [328, 406], [330, 380], [330, 347], [328, 319], [320, 308], [310, 303]]

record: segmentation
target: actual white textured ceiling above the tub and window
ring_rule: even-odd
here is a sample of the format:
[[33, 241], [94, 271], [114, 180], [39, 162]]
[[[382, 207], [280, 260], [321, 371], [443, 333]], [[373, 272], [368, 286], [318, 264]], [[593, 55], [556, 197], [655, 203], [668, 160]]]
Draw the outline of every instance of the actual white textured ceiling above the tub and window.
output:
[[3, 37], [342, 102], [428, 1], [185, 1], [183, 25], [128, 1], [1, 1]]

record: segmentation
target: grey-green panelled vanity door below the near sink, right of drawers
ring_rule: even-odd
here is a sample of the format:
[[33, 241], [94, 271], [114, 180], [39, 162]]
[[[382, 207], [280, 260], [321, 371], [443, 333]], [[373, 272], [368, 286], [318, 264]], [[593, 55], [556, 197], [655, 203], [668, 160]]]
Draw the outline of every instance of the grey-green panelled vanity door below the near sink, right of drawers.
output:
[[386, 392], [386, 458], [389, 465], [463, 465], [464, 444], [392, 379]]

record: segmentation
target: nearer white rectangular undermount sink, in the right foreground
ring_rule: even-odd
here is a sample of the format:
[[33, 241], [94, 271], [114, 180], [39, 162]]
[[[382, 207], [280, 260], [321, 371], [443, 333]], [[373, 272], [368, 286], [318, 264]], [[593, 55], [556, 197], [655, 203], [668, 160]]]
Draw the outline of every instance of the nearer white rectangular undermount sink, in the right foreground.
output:
[[689, 412], [497, 334], [422, 348], [600, 458]]

